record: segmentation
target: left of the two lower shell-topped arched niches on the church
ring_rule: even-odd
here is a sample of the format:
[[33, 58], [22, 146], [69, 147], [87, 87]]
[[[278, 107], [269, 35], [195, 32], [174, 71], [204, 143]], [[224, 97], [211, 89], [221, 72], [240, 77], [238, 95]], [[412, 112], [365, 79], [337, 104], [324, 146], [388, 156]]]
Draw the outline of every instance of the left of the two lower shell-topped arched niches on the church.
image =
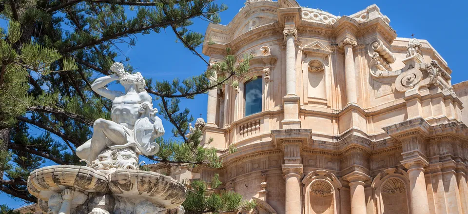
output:
[[[310, 172], [302, 180], [305, 214], [340, 214], [338, 178], [327, 170]], [[313, 199], [313, 202], [312, 202]]]

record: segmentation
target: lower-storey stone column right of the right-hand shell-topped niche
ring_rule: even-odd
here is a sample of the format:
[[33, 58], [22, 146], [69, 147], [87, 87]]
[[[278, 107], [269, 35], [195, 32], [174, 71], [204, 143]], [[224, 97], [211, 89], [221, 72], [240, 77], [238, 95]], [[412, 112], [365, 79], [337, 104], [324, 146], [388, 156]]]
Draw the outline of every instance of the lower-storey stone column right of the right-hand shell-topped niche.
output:
[[428, 193], [426, 190], [423, 168], [429, 163], [421, 157], [413, 160], [403, 160], [401, 162], [402, 165], [408, 169], [411, 213], [429, 214]]

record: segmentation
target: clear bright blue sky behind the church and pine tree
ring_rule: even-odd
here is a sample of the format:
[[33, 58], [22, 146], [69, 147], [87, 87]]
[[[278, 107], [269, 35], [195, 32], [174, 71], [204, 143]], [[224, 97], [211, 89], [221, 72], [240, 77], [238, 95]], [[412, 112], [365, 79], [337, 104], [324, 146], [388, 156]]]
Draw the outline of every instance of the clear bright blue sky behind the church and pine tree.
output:
[[[228, 24], [244, 0], [217, 0], [225, 3], [229, 9], [221, 13], [221, 24]], [[390, 25], [398, 37], [427, 39], [437, 52], [448, 62], [453, 71], [452, 83], [468, 80], [464, 62], [467, 60], [467, 49], [464, 38], [468, 34], [468, 16], [465, 0], [298, 0], [303, 7], [319, 8], [337, 16], [351, 15], [365, 9], [371, 4], [377, 4], [381, 12], [390, 18]], [[195, 19], [191, 30], [204, 33], [208, 23]], [[158, 80], [187, 78], [198, 75], [206, 69], [206, 64], [185, 49], [181, 43], [176, 43], [176, 37], [171, 30], [137, 35], [137, 45], [128, 47], [119, 45], [121, 58], [129, 57], [130, 63], [146, 78]], [[201, 52], [201, 50], [200, 50]], [[118, 59], [121, 59], [118, 58]], [[157, 101], [156, 101], [157, 102]], [[156, 106], [155, 102], [155, 106]], [[182, 102], [181, 109], [188, 107], [193, 116], [206, 119], [207, 95], [199, 95], [193, 100]], [[163, 119], [167, 138], [171, 137], [172, 126]], [[24, 202], [9, 198], [0, 193], [0, 204], [8, 204], [12, 208], [24, 206]]]

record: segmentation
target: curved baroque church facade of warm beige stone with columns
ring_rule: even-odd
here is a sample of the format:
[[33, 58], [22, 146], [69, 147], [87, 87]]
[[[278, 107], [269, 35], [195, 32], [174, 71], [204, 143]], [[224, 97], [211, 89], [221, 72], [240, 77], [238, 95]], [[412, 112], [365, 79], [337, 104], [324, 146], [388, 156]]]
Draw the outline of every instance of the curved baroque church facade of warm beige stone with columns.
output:
[[254, 56], [238, 86], [208, 93], [203, 137], [223, 168], [153, 169], [217, 173], [257, 214], [468, 214], [468, 82], [389, 23], [376, 5], [339, 17], [248, 0], [203, 47], [211, 62]]

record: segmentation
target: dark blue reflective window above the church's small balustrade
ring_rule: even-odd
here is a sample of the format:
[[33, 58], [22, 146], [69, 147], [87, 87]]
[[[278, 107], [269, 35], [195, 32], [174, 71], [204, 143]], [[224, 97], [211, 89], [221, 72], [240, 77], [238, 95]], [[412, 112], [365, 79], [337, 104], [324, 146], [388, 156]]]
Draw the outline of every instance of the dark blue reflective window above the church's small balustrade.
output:
[[262, 111], [262, 77], [250, 80], [244, 84], [245, 116]]

